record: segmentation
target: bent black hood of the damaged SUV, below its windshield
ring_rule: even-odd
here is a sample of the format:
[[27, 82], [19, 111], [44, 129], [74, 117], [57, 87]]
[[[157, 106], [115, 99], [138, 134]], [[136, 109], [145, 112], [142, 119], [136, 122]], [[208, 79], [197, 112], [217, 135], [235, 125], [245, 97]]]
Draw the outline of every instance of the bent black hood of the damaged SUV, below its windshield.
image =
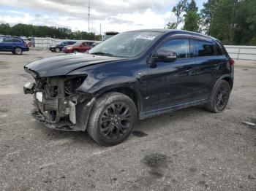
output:
[[53, 77], [65, 75], [70, 71], [80, 69], [84, 66], [124, 59], [126, 58], [80, 53], [70, 55], [56, 55], [50, 58], [45, 58], [29, 63], [24, 66], [24, 69], [29, 73], [36, 74], [37, 77]]

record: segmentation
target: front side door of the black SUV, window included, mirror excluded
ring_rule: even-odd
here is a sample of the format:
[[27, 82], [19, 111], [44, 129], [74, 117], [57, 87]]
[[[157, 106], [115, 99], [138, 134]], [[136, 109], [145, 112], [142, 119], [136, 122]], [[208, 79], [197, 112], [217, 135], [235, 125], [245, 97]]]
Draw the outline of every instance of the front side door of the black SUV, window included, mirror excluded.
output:
[[195, 58], [189, 36], [165, 39], [154, 52], [176, 52], [173, 62], [158, 61], [156, 68], [148, 70], [146, 110], [168, 110], [192, 101], [195, 91]]

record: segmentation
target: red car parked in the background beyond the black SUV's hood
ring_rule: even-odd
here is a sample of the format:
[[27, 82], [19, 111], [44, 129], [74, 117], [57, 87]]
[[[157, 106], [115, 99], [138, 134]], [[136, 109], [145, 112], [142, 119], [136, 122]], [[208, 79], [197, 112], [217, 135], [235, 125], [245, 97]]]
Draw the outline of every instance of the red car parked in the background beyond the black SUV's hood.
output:
[[94, 42], [77, 42], [73, 45], [69, 45], [63, 48], [65, 53], [75, 53], [75, 52], [86, 52], [91, 49], [91, 45]]

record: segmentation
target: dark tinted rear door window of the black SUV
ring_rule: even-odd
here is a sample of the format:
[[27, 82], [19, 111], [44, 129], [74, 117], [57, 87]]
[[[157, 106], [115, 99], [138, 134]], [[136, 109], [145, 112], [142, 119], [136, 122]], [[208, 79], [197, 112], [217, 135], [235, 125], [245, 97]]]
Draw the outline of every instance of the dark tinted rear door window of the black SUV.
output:
[[197, 56], [215, 55], [214, 46], [211, 42], [195, 41]]

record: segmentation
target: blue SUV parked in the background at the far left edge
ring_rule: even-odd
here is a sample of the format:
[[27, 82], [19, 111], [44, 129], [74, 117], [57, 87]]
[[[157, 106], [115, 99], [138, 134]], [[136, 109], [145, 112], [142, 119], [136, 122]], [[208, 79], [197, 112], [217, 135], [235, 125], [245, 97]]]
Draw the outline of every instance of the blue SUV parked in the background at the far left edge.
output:
[[12, 52], [14, 55], [21, 55], [23, 51], [29, 51], [29, 45], [23, 39], [0, 36], [0, 52]]

